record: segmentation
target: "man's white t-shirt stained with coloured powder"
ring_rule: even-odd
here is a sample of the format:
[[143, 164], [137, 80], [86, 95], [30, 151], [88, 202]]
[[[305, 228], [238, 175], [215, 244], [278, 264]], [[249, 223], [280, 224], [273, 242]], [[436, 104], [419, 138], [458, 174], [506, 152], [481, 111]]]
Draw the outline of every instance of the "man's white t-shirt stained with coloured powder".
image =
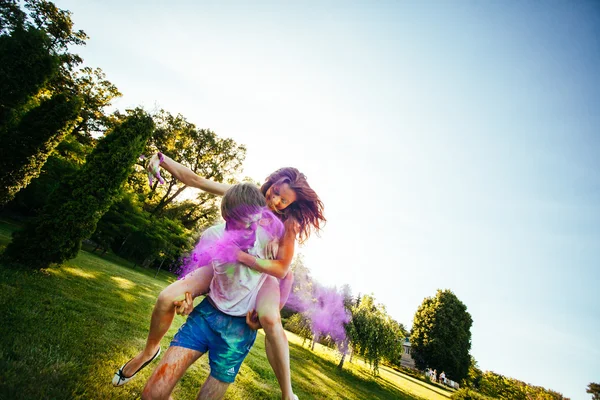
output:
[[[225, 224], [208, 228], [202, 235], [202, 240], [218, 240], [225, 233]], [[256, 230], [254, 247], [248, 254], [262, 259], [273, 259], [277, 246], [269, 245], [269, 235], [262, 227]], [[268, 253], [268, 254], [267, 254]], [[210, 283], [208, 296], [214, 305], [232, 316], [245, 316], [256, 307], [256, 296], [267, 279], [267, 274], [255, 271], [242, 263], [212, 262], [214, 268], [213, 280]]]

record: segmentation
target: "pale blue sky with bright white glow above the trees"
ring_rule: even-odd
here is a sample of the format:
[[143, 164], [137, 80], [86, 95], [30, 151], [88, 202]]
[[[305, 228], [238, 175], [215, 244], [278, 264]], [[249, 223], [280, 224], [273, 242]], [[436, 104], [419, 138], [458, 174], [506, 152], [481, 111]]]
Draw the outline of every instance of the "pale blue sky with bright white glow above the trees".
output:
[[600, 381], [600, 4], [57, 0], [119, 108], [182, 113], [326, 205], [314, 276], [412, 325], [449, 288], [485, 370]]

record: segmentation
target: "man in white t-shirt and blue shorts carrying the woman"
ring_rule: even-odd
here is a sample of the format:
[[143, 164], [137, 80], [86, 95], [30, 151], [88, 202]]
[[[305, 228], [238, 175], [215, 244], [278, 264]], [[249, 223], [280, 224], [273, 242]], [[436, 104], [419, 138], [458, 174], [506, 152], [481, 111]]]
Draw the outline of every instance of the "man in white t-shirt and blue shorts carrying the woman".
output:
[[[266, 201], [258, 187], [239, 184], [229, 189], [221, 202], [225, 224], [204, 232], [201, 241], [218, 243], [235, 232], [236, 244], [259, 258], [274, 258], [276, 249], [268, 246], [273, 238], [263, 219]], [[267, 248], [269, 254], [267, 254]], [[177, 381], [204, 353], [208, 352], [210, 376], [202, 385], [199, 399], [221, 399], [234, 382], [243, 360], [256, 339], [256, 331], [246, 324], [246, 315], [254, 309], [256, 296], [267, 278], [238, 262], [213, 260], [210, 293], [194, 309], [173, 338], [171, 347], [156, 367], [142, 393], [142, 399], [169, 398]], [[204, 268], [210, 268], [204, 267]]]

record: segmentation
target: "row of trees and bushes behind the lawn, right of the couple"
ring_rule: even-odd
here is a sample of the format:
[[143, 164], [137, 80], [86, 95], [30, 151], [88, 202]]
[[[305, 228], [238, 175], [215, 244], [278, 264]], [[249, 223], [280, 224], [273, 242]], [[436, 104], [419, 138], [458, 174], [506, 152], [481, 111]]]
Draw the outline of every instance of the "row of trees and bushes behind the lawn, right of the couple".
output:
[[[375, 375], [381, 364], [429, 381], [427, 368], [445, 372], [460, 384], [453, 399], [566, 399], [562, 394], [491, 371], [483, 372], [470, 355], [472, 319], [464, 303], [450, 290], [438, 290], [415, 312], [410, 332], [394, 320], [373, 294], [353, 295], [348, 285], [326, 288], [312, 278], [304, 258], [292, 264], [294, 284], [282, 317], [284, 326], [314, 349], [321, 343], [339, 351], [338, 367], [354, 355], [362, 357]], [[343, 327], [340, 334], [339, 327]], [[415, 369], [402, 366], [404, 339], [411, 343]], [[440, 382], [441, 383], [441, 382]]]

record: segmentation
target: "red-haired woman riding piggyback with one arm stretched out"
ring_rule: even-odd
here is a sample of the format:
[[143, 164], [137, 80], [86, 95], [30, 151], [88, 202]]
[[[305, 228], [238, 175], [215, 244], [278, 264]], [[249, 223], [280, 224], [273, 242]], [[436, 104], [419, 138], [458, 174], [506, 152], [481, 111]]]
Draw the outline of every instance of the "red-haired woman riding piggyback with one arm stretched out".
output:
[[[150, 159], [148, 164], [150, 177], [156, 176], [161, 180], [159, 166], [187, 186], [219, 196], [230, 187], [224, 183], [202, 178], [162, 153]], [[268, 207], [279, 215], [285, 227], [283, 238], [279, 243], [277, 259], [258, 259], [241, 251], [238, 252], [237, 259], [256, 271], [270, 275], [258, 294], [256, 310], [260, 325], [265, 331], [267, 358], [281, 387], [282, 398], [293, 399], [289, 347], [281, 325], [279, 310], [285, 304], [291, 290], [292, 274], [288, 274], [288, 271], [294, 256], [296, 239], [302, 243], [308, 239], [312, 231], [319, 231], [321, 224], [325, 222], [323, 203], [306, 182], [304, 174], [295, 168], [281, 168], [272, 173], [262, 185], [261, 191], [265, 195]], [[152, 313], [146, 347], [115, 374], [113, 379], [115, 386], [126, 383], [158, 356], [160, 340], [168, 331], [175, 315], [173, 307], [175, 299], [185, 294], [186, 303], [191, 304], [192, 296], [208, 291], [212, 273], [212, 268], [199, 268], [161, 292]], [[281, 281], [278, 282], [278, 279]], [[181, 305], [181, 303], [176, 304]], [[250, 319], [248, 316], [247, 320], [252, 324]]]

